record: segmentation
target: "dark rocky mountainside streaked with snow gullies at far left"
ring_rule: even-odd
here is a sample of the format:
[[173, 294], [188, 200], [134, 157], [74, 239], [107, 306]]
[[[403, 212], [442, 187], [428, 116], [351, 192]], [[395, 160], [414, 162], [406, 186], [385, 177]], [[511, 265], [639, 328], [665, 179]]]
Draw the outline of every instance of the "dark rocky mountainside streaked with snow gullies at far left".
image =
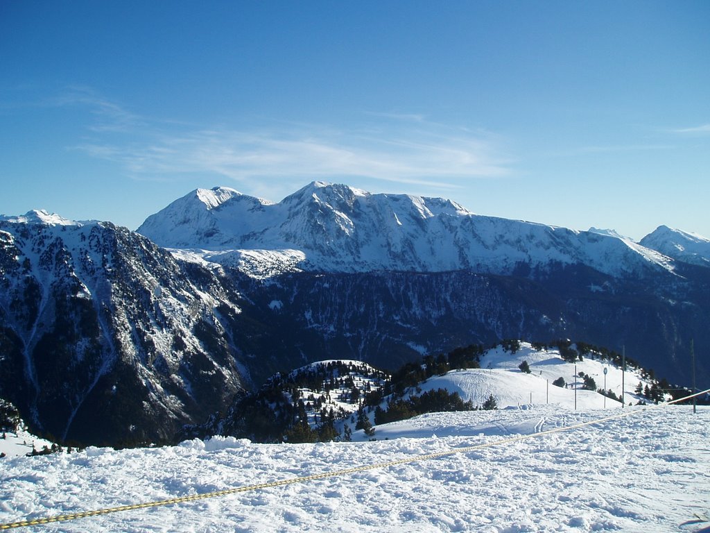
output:
[[[55, 438], [170, 436], [241, 388], [239, 295], [108, 222], [0, 221], [0, 391]], [[231, 326], [230, 326], [231, 329]]]

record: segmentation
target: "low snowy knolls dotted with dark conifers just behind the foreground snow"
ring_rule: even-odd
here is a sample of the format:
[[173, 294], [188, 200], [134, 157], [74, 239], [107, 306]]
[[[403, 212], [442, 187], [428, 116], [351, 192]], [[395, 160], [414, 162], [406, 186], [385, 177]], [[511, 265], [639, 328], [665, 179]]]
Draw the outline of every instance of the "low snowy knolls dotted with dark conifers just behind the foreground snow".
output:
[[[180, 438], [219, 434], [258, 442], [369, 440], [369, 432], [352, 433], [354, 427], [364, 427], [364, 417], [371, 425], [381, 427], [386, 421], [417, 413], [476, 409], [491, 397], [495, 409], [548, 404], [565, 409], [613, 409], [622, 407], [622, 397], [629, 405], [664, 398], [648, 373], [628, 365], [623, 378], [614, 362], [617, 355], [603, 355], [591, 347], [582, 350], [571, 344], [566, 348], [568, 359], [574, 358], [574, 362], [564, 360], [560, 348], [533, 348], [519, 341], [515, 347], [498, 345], [478, 350], [460, 348], [447, 356], [426, 357], [420, 365], [400, 368], [394, 377], [364, 362], [315, 362], [274, 375], [258, 392], [238, 395], [224, 416], [211, 417], [202, 426], [190, 426]], [[580, 359], [581, 351], [586, 356]], [[621, 356], [618, 362], [621, 364]], [[483, 367], [471, 368], [479, 364]], [[521, 366], [529, 372], [520, 370]], [[427, 396], [429, 392], [437, 394]], [[458, 398], [444, 400], [449, 394]], [[409, 407], [403, 408], [403, 403]], [[249, 411], [259, 415], [245, 416]], [[293, 434], [297, 423], [306, 423], [312, 431]], [[386, 438], [393, 436], [408, 435], [386, 434]]]

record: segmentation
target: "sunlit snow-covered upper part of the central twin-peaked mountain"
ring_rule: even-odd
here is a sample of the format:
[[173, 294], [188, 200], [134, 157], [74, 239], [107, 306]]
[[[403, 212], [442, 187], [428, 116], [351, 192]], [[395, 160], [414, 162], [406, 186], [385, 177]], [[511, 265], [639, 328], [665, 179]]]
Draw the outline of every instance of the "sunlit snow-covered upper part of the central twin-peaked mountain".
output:
[[[138, 228], [179, 249], [302, 252], [283, 270], [449, 271], [510, 274], [521, 265], [584, 264], [613, 276], [671, 271], [672, 260], [629, 239], [474, 215], [451, 200], [371, 194], [314, 182], [280, 203], [236, 190], [197, 189]], [[234, 254], [209, 254], [233, 262]], [[273, 259], [273, 258], [270, 258]], [[240, 262], [241, 261], [241, 262]], [[263, 273], [260, 273], [263, 275]]]

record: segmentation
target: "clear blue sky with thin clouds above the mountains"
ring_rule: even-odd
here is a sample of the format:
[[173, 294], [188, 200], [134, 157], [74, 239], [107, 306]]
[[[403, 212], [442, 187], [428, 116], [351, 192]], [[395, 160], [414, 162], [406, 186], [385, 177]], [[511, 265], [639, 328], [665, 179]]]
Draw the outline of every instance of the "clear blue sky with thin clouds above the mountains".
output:
[[707, 1], [0, 3], [0, 212], [313, 180], [710, 237]]

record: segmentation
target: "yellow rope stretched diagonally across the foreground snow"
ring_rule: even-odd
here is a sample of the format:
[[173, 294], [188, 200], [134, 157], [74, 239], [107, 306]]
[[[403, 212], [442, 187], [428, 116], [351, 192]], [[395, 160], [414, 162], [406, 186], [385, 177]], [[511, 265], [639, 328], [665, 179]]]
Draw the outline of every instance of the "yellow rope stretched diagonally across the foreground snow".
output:
[[173, 505], [183, 502], [194, 502], [197, 500], [206, 500], [207, 498], [226, 496], [231, 494], [238, 494], [239, 492], [251, 492], [253, 490], [261, 490], [271, 487], [283, 487], [285, 485], [293, 485], [295, 483], [306, 483], [307, 481], [326, 479], [326, 478], [336, 478], [342, 475], [354, 474], [357, 472], [364, 472], [366, 470], [375, 470], [377, 468], [388, 468], [395, 465], [403, 465], [406, 463], [415, 463], [417, 461], [429, 461], [430, 459], [437, 459], [446, 456], [452, 456], [457, 453], [469, 453], [471, 451], [481, 450], [483, 448], [492, 448], [494, 446], [503, 446], [503, 444], [510, 444], [518, 441], [525, 441], [528, 438], [536, 438], [543, 435], [552, 435], [555, 433], [562, 433], [562, 431], [569, 431], [570, 429], [578, 429], [584, 426], [591, 426], [592, 424], [598, 424], [599, 422], [605, 422], [613, 419], [619, 419], [623, 416], [630, 416], [632, 414], [638, 414], [648, 411], [656, 407], [665, 407], [667, 405], [676, 404], [678, 402], [684, 402], [687, 399], [691, 399], [701, 394], [710, 393], [710, 389], [706, 389], [696, 394], [691, 394], [690, 396], [672, 400], [671, 402], [664, 402], [662, 404], [654, 404], [647, 406], [645, 409], [625, 409], [620, 414], [614, 414], [611, 416], [604, 416], [601, 419], [594, 419], [591, 421], [581, 422], [579, 424], [573, 424], [572, 426], [562, 426], [554, 429], [547, 429], [545, 431], [539, 431], [537, 433], [527, 434], [527, 435], [517, 435], [508, 438], [503, 438], [498, 441], [493, 441], [489, 443], [476, 444], [474, 446], [466, 446], [465, 448], [455, 448], [449, 449], [447, 451], [440, 451], [436, 453], [428, 453], [426, 455], [407, 457], [403, 459], [397, 459], [395, 461], [386, 461], [383, 463], [373, 463], [370, 465], [357, 466], [354, 468], [345, 468], [344, 470], [333, 470], [331, 472], [324, 472], [320, 474], [305, 475], [299, 478], [290, 478], [285, 480], [271, 481], [268, 483], [257, 483], [256, 485], [245, 485], [244, 487], [235, 487], [225, 490], [215, 490], [214, 492], [203, 492], [202, 494], [193, 494], [188, 496], [180, 496], [170, 498], [168, 500], [158, 500], [154, 502], [143, 502], [134, 505], [120, 505], [119, 507], [107, 507], [105, 509], [98, 509], [92, 511], [80, 511], [75, 513], [70, 513], [67, 515], [55, 515], [50, 517], [43, 517], [37, 519], [24, 519], [18, 522], [8, 522], [6, 524], [0, 524], [1, 529], [14, 529], [18, 527], [28, 527], [36, 526], [41, 524], [52, 524], [53, 522], [67, 522], [68, 520], [76, 520], [86, 517], [95, 517], [99, 515], [109, 515], [114, 512], [130, 511], [134, 509], [146, 509], [148, 507], [160, 507], [163, 505]]

